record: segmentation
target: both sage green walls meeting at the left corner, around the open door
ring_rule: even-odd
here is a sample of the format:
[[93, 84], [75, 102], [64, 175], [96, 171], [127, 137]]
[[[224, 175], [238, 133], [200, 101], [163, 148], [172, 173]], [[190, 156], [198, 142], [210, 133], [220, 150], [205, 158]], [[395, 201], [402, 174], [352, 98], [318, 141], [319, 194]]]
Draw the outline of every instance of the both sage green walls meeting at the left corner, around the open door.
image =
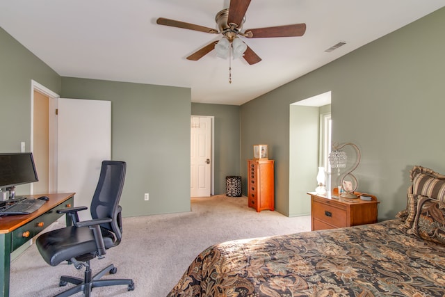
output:
[[31, 79], [61, 97], [110, 100], [112, 157], [128, 163], [124, 216], [191, 210], [189, 88], [61, 78], [1, 28], [0, 45], [0, 152], [19, 152], [22, 141], [30, 150]]

